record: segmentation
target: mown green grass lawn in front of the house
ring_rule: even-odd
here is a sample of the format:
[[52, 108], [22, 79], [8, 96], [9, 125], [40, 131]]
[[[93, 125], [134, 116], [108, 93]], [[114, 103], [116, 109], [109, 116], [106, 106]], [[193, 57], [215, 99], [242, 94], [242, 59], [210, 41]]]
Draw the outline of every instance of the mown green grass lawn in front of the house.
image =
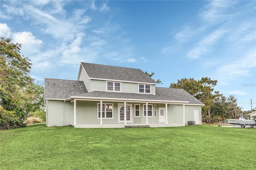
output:
[[213, 126], [0, 131], [1, 170], [256, 169], [256, 129]]

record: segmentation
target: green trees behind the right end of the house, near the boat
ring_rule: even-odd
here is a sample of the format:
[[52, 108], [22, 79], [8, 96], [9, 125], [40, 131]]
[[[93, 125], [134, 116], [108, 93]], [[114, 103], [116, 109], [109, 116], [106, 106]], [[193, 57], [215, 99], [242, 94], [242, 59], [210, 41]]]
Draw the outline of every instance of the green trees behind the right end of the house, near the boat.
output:
[[233, 118], [237, 119], [241, 108], [236, 103], [236, 98], [232, 95], [225, 97], [219, 91], [214, 91], [217, 85], [217, 80], [212, 80], [208, 77], [196, 81], [193, 78], [183, 78], [177, 83], [171, 83], [170, 88], [184, 89], [196, 99], [204, 103], [202, 107], [203, 117], [209, 119], [210, 117], [218, 117], [218, 119]]

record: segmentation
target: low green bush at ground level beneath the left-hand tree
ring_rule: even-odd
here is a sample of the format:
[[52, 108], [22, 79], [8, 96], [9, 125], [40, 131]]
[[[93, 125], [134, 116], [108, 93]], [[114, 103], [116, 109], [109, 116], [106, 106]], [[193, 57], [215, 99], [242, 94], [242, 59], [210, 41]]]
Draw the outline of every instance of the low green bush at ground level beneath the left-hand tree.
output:
[[27, 114], [20, 109], [14, 111], [7, 111], [0, 108], [0, 129], [26, 127], [23, 123], [27, 118]]

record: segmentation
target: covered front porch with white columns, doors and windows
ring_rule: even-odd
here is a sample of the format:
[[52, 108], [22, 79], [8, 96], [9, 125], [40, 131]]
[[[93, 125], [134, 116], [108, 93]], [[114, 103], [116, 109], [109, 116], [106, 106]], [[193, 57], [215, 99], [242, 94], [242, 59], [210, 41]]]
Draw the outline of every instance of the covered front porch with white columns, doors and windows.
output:
[[[75, 128], [124, 128], [126, 125], [185, 126], [185, 104], [189, 102], [76, 97], [71, 99], [70, 103], [74, 105], [74, 123], [70, 125]], [[91, 109], [88, 109], [89, 107]], [[174, 111], [177, 107], [178, 111]], [[81, 117], [87, 120], [82, 121]], [[90, 122], [89, 119], [93, 121]], [[174, 122], [176, 119], [177, 122]]]

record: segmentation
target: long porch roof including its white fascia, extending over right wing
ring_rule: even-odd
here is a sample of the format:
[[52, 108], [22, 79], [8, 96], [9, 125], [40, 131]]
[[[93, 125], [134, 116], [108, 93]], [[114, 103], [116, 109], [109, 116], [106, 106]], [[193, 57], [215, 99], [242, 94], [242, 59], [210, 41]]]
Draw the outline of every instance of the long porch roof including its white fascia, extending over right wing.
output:
[[93, 91], [70, 96], [72, 99], [94, 99], [94, 100], [125, 100], [125, 101], [152, 101], [159, 103], [184, 103], [191, 105], [204, 105], [201, 101], [190, 95], [184, 89], [156, 87], [156, 95], [136, 93], [116, 93]]

